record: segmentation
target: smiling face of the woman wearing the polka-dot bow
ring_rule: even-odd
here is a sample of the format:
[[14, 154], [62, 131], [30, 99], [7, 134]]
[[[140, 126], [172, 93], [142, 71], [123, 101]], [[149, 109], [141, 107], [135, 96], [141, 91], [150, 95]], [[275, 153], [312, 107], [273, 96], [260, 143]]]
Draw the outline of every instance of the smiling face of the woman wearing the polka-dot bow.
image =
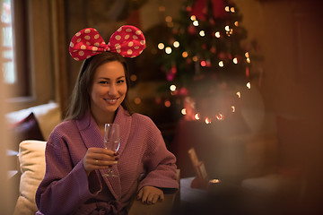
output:
[[114, 114], [125, 99], [127, 83], [125, 69], [118, 61], [101, 64], [95, 71], [91, 97], [94, 116]]

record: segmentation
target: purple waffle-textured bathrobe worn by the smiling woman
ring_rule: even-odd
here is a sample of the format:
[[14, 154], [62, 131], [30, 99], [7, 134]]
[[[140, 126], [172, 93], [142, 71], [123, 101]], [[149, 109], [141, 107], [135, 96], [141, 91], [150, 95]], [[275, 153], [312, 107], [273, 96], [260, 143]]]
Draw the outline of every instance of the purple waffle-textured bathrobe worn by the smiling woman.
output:
[[103, 147], [90, 112], [57, 125], [48, 139], [46, 174], [36, 193], [38, 214], [127, 214], [128, 203], [143, 186], [179, 188], [176, 159], [153, 121], [140, 114], [130, 116], [120, 106], [114, 123], [120, 125], [121, 144], [118, 165], [112, 169], [119, 177], [102, 176], [107, 169], [86, 176], [86, 150]]

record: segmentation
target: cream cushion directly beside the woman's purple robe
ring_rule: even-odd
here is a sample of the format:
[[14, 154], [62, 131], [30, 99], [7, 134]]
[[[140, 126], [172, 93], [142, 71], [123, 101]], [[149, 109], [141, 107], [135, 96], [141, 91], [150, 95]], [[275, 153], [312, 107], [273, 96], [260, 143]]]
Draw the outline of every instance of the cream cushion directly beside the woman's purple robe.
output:
[[35, 194], [45, 175], [45, 148], [46, 142], [41, 141], [23, 141], [19, 145], [22, 176], [14, 215], [35, 214], [38, 211]]

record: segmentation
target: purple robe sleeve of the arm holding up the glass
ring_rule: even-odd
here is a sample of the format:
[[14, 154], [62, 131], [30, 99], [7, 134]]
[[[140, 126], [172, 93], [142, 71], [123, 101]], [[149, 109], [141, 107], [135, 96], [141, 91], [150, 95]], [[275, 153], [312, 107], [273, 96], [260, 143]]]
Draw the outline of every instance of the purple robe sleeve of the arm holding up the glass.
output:
[[75, 162], [72, 157], [76, 155], [71, 156], [66, 143], [70, 140], [66, 139], [65, 131], [74, 133], [72, 127], [61, 125], [51, 133], [46, 147], [46, 174], [36, 193], [39, 211], [46, 215], [71, 214], [80, 204], [100, 192], [100, 179], [95, 174], [90, 177], [97, 180], [92, 184], [98, 186], [92, 192], [89, 189], [90, 179], [81, 159], [85, 149], [79, 150], [80, 159]]

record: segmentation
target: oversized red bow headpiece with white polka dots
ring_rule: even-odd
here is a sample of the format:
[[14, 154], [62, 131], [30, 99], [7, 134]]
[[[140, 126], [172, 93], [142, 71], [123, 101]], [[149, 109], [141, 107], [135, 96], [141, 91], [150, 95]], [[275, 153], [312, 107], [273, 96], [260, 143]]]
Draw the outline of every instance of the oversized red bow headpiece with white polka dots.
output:
[[139, 56], [145, 48], [144, 34], [132, 25], [121, 26], [112, 34], [108, 45], [98, 30], [87, 28], [78, 31], [71, 40], [69, 53], [81, 61], [102, 52], [114, 52], [124, 57]]

